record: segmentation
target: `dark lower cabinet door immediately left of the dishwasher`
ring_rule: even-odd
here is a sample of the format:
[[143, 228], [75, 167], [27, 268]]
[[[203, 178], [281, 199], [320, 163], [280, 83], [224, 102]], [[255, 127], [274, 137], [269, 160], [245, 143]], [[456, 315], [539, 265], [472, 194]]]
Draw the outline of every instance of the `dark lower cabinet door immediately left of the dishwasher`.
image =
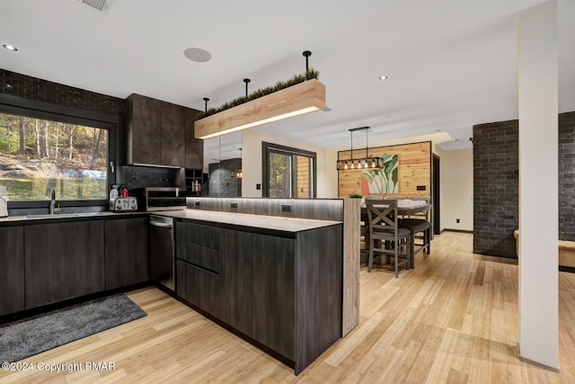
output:
[[148, 281], [147, 218], [106, 220], [106, 290]]

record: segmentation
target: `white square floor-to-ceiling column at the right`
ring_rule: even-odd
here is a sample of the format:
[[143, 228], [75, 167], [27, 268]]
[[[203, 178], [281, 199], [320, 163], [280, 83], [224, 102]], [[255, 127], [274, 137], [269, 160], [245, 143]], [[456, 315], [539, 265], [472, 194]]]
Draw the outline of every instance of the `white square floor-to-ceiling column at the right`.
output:
[[558, 61], [555, 0], [519, 13], [517, 63], [519, 356], [558, 370]]

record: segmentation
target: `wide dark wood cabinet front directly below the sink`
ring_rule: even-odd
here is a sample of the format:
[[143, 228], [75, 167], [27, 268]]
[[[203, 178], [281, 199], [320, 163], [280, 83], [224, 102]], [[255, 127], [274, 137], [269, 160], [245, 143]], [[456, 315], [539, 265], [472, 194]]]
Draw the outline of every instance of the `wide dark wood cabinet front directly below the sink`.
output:
[[103, 220], [24, 228], [26, 308], [102, 291]]

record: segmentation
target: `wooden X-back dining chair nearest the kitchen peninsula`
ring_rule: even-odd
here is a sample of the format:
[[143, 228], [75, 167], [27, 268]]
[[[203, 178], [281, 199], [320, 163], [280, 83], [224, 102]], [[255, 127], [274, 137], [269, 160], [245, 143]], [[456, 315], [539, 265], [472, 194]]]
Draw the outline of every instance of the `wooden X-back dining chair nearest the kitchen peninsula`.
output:
[[[397, 214], [397, 201], [387, 199], [366, 199], [367, 221], [369, 225], [369, 259], [367, 272], [371, 272], [374, 263], [374, 254], [386, 256], [387, 263], [394, 257], [395, 277], [399, 276], [400, 265], [409, 270], [411, 255], [411, 232], [409, 229], [399, 227]], [[400, 254], [400, 249], [405, 252]], [[400, 262], [400, 259], [403, 261]]]

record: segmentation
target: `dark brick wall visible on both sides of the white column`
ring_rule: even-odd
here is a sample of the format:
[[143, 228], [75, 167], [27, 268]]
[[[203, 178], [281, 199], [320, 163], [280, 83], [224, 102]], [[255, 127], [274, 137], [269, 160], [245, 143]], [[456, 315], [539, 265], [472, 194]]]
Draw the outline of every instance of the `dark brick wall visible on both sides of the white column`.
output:
[[[518, 121], [473, 126], [473, 253], [516, 257]], [[559, 114], [559, 239], [575, 241], [575, 112]]]

